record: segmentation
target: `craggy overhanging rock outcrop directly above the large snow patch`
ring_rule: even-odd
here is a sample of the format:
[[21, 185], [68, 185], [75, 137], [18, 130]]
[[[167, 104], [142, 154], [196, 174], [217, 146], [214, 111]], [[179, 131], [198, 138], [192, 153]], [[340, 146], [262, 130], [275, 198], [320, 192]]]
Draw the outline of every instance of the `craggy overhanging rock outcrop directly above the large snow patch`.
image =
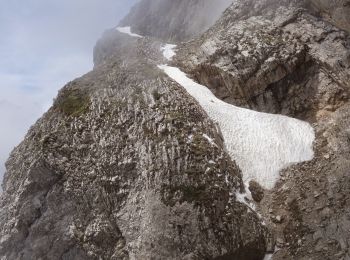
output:
[[299, 118], [335, 110], [349, 96], [349, 36], [306, 6], [236, 1], [178, 63], [232, 104]]

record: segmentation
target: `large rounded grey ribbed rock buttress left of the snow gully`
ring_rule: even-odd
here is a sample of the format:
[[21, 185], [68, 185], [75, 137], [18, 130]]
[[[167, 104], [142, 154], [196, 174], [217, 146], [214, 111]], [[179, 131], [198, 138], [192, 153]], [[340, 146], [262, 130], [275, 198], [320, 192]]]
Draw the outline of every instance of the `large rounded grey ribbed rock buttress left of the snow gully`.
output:
[[124, 44], [60, 91], [7, 162], [1, 259], [262, 259], [266, 228], [236, 198], [217, 126], [157, 68], [159, 42], [109, 33]]

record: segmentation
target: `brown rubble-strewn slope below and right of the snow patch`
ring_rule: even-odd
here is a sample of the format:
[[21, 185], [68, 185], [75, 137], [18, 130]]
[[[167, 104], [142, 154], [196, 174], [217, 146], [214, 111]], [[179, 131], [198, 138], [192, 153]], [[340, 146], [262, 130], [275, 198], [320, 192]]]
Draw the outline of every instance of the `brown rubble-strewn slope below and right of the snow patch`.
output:
[[315, 158], [283, 171], [265, 194], [260, 208], [280, 248], [274, 260], [350, 257], [349, 108], [318, 122]]

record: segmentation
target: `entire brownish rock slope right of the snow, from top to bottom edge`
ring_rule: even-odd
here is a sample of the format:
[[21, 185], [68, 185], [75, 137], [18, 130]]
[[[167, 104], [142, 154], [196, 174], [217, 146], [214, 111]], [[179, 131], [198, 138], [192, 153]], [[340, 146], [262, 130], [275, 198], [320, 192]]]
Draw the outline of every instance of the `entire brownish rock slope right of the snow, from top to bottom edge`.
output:
[[285, 169], [258, 204], [273, 259], [350, 258], [350, 38], [341, 15], [320, 14], [343, 2], [316, 2], [235, 1], [174, 61], [226, 102], [313, 123], [315, 158]]

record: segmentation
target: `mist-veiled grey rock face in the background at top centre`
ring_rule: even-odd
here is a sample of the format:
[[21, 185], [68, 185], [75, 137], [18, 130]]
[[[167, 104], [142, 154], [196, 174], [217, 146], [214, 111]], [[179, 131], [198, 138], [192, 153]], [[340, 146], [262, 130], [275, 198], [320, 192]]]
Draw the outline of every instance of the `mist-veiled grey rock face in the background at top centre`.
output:
[[181, 41], [199, 35], [221, 16], [232, 0], [142, 0], [121, 22], [135, 32]]

